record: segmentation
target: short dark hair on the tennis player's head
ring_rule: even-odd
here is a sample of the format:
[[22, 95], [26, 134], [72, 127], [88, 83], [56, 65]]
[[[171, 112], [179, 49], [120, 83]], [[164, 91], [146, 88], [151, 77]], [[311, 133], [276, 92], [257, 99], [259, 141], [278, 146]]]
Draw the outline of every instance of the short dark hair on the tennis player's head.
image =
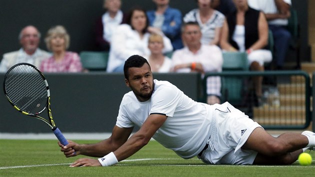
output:
[[123, 65], [124, 78], [128, 79], [129, 77], [128, 69], [130, 67], [142, 67], [144, 63], [147, 63], [150, 66], [147, 60], [140, 55], [135, 54], [128, 57], [128, 59], [124, 61], [124, 65]]

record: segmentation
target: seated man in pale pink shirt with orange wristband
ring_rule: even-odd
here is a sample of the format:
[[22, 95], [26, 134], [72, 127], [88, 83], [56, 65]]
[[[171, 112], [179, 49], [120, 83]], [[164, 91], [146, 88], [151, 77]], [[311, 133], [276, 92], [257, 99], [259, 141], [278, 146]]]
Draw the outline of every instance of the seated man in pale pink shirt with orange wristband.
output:
[[[172, 71], [174, 72], [220, 72], [222, 70], [222, 52], [216, 45], [200, 42], [201, 31], [197, 22], [187, 22], [182, 26], [182, 40], [186, 44], [175, 50], [172, 55]], [[219, 76], [207, 78], [207, 103], [220, 103], [221, 80]]]

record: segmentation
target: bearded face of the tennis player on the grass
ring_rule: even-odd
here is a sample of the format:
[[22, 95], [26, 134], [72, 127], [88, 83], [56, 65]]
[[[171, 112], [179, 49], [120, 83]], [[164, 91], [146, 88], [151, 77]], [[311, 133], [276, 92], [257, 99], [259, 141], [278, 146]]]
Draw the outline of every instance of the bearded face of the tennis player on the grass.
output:
[[142, 67], [130, 67], [128, 69], [129, 76], [125, 79], [125, 83], [131, 88], [139, 101], [148, 100], [153, 92], [153, 75], [147, 63]]

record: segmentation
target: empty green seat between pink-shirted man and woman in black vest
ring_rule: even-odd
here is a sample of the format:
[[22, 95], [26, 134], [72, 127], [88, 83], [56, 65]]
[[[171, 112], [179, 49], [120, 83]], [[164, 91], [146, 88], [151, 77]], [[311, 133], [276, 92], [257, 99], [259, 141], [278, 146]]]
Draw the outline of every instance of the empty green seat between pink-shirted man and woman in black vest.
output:
[[[223, 52], [222, 71], [246, 71], [248, 70], [246, 52]], [[239, 105], [244, 96], [245, 79], [239, 76], [221, 77], [221, 100]]]

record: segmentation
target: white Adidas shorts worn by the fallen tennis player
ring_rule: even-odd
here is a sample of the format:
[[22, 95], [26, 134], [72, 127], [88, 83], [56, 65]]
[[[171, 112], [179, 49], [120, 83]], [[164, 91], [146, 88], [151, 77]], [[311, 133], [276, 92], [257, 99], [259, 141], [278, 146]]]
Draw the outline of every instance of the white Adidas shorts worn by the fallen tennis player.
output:
[[198, 158], [211, 164], [252, 164], [257, 152], [241, 146], [257, 127], [261, 126], [228, 102], [219, 105], [213, 113], [208, 148]]

